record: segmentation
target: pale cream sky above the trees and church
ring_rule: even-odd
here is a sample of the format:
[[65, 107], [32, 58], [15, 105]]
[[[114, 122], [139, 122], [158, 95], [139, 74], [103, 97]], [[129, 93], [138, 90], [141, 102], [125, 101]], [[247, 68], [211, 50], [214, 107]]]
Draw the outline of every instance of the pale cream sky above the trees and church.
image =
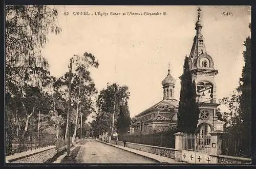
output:
[[74, 54], [92, 53], [99, 61], [97, 69], [90, 69], [97, 90], [106, 88], [108, 82], [129, 87], [131, 117], [162, 100], [161, 81], [168, 73], [168, 63], [176, 79], [175, 98], [179, 100], [179, 77], [196, 35], [198, 7], [206, 51], [219, 71], [215, 77], [217, 98], [229, 96], [239, 85], [243, 43], [251, 34], [249, 6], [51, 7], [57, 9], [56, 23], [62, 29], [59, 35], [50, 34], [42, 49], [51, 75], [60, 77], [68, 72]]

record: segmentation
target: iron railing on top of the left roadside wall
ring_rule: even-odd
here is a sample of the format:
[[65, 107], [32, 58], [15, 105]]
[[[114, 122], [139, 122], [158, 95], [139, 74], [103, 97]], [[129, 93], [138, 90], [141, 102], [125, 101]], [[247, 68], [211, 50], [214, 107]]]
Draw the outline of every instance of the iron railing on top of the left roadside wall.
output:
[[55, 141], [54, 134], [20, 131], [6, 140], [6, 155], [55, 145]]

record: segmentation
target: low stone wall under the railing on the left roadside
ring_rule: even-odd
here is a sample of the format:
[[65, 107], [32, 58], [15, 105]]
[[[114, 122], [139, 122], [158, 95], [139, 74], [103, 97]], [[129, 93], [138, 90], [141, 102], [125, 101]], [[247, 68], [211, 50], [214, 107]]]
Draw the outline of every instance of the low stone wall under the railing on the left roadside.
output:
[[7, 163], [44, 163], [58, 152], [55, 146], [48, 146], [27, 152], [6, 156]]

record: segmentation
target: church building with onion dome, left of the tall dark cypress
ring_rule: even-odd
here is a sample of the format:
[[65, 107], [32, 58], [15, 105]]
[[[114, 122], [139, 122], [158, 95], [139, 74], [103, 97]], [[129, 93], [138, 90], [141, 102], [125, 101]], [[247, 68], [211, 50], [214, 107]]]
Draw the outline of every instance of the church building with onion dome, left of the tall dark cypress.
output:
[[175, 78], [170, 75], [162, 80], [163, 99], [136, 115], [137, 122], [130, 126], [130, 134], [151, 133], [177, 126], [178, 101], [174, 98]]

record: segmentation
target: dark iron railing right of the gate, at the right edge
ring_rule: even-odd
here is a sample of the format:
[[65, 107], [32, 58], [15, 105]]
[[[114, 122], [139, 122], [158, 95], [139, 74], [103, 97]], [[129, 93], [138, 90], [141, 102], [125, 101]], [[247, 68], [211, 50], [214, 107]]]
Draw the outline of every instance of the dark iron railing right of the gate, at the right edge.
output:
[[251, 145], [243, 144], [242, 139], [236, 135], [222, 135], [222, 154], [251, 158]]

